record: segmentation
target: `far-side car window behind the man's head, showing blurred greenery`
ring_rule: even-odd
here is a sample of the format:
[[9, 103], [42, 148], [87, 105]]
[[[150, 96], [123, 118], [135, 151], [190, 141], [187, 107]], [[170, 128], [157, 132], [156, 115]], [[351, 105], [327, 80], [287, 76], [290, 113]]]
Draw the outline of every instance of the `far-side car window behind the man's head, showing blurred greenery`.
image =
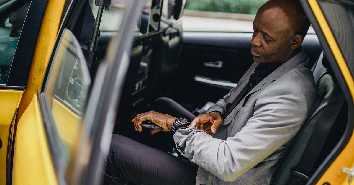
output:
[[[182, 22], [186, 32], [253, 32], [253, 19], [267, 0], [188, 0]], [[314, 33], [310, 28], [309, 33]]]

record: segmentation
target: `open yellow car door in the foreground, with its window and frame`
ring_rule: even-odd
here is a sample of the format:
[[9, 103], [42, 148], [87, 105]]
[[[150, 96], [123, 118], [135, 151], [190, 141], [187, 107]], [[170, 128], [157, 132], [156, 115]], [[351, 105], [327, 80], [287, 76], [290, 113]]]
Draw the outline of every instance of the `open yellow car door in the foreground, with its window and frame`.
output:
[[95, 4], [95, 0], [71, 2], [42, 87], [32, 95], [17, 124], [12, 184], [101, 182], [115, 110], [129, 66], [127, 56], [136, 26], [131, 23], [141, 16], [143, 4], [143, 0], [127, 0], [107, 5], [108, 13], [116, 13], [115, 20], [120, 24], [115, 33], [119, 34], [112, 39], [107, 59], [101, 58], [96, 78], [91, 79], [93, 68], [89, 68], [90, 57], [85, 52], [87, 43], [98, 36], [99, 26], [95, 26], [93, 15], [101, 16], [104, 6]]

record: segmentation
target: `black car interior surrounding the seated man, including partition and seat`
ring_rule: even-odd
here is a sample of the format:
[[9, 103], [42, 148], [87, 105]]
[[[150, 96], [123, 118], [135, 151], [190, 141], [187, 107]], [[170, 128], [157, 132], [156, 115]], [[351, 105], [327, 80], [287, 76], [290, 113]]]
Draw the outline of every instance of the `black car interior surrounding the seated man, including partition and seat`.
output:
[[[113, 131], [165, 152], [175, 147], [166, 140], [169, 133], [150, 136], [147, 129], [138, 133], [131, 119], [149, 111], [158, 97], [170, 97], [196, 115], [203, 113], [202, 107], [227, 94], [253, 63], [252, 33], [183, 32], [180, 18], [184, 5], [185, 0], [148, 0], [141, 19], [133, 23], [135, 37]], [[63, 25], [79, 41], [93, 81], [110, 40], [119, 32], [124, 2], [80, 1], [76, 8], [78, 11], [67, 13], [72, 19]], [[0, 27], [0, 45], [9, 30]], [[348, 106], [316, 34], [307, 34], [302, 47], [309, 56], [320, 102], [289, 142], [290, 148], [274, 172], [274, 185], [290, 181], [305, 184], [320, 166], [326, 165], [322, 162], [329, 153], [337, 152], [347, 127]]]

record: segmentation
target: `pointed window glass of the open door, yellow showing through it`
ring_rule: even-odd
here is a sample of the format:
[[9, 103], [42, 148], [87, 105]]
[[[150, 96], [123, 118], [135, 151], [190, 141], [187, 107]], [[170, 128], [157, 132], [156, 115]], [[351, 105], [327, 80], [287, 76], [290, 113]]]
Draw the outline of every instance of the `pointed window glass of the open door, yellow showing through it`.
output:
[[91, 84], [81, 47], [68, 29], [64, 29], [45, 84], [55, 128], [67, 156], [79, 137], [87, 91]]

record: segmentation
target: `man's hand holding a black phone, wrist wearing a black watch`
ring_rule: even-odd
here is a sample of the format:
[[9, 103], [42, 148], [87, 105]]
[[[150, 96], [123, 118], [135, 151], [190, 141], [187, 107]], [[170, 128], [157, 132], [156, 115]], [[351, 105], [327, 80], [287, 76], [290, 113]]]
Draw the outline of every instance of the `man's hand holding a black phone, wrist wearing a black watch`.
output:
[[163, 128], [162, 130], [151, 129], [150, 133], [155, 134], [158, 133], [159, 131], [164, 131], [164, 132], [170, 131], [172, 124], [176, 119], [177, 118], [170, 116], [168, 114], [161, 114], [155, 111], [149, 111], [149, 112], [137, 114], [136, 117], [132, 119], [132, 122], [134, 123], [135, 131], [141, 132], [141, 130], [143, 129], [143, 127], [141, 127], [143, 121], [145, 120], [152, 121], [156, 125]]

